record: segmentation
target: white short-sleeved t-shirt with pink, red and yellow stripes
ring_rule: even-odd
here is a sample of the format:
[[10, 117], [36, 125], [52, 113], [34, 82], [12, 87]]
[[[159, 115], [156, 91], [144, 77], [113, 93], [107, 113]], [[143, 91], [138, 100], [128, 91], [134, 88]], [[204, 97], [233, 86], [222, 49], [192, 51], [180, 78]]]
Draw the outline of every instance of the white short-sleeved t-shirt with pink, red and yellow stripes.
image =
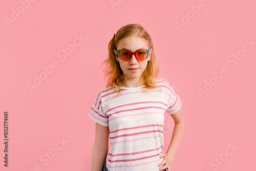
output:
[[[163, 160], [164, 112], [175, 114], [181, 100], [166, 79], [155, 82], [160, 89], [123, 88], [117, 95], [113, 88], [100, 90], [89, 117], [109, 126], [111, 147], [106, 166], [116, 170], [159, 170]], [[116, 96], [117, 95], [117, 96]], [[116, 97], [115, 97], [116, 96]]]

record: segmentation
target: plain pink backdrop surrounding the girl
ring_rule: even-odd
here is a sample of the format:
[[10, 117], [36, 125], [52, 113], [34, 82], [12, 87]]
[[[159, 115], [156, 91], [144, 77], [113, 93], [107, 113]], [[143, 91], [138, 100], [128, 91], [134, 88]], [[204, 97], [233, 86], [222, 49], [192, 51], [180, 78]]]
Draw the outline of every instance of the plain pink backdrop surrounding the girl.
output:
[[[153, 37], [159, 77], [180, 96], [188, 118], [172, 170], [256, 170], [256, 44], [245, 45], [245, 39], [256, 42], [256, 2], [112, 2], [116, 6], [108, 0], [34, 1], [23, 3], [27, 9], [18, 0], [0, 2], [0, 169], [91, 170], [95, 122], [88, 113], [106, 83], [100, 65], [113, 34], [139, 23]], [[14, 19], [8, 24], [7, 17]], [[177, 23], [183, 26], [177, 29]], [[72, 45], [80, 34], [86, 38]], [[64, 58], [61, 50], [67, 47], [72, 52]], [[232, 53], [243, 57], [228, 62]], [[42, 67], [54, 61], [44, 75]], [[212, 72], [220, 74], [222, 66], [226, 73], [217, 79]], [[27, 84], [40, 74], [44, 80], [30, 92]], [[205, 81], [213, 85], [200, 96]], [[9, 111], [8, 168], [4, 111]], [[173, 123], [166, 114], [165, 151]]]

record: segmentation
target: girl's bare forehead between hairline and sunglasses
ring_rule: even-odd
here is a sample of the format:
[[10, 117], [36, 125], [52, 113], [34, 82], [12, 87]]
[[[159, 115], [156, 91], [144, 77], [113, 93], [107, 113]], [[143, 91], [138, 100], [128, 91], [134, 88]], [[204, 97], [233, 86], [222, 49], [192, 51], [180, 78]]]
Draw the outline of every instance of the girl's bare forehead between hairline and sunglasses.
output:
[[146, 41], [136, 36], [129, 36], [122, 38], [117, 44], [117, 50], [127, 49], [132, 52], [138, 49], [148, 49]]

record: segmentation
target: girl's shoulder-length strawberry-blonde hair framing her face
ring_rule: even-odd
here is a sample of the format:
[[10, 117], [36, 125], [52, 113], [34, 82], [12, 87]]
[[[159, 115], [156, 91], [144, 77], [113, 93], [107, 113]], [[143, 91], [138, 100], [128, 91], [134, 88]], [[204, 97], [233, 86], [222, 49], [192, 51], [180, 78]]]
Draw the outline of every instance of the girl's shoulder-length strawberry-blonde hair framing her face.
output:
[[[117, 31], [116, 35], [113, 36], [113, 38], [110, 40], [108, 45], [108, 58], [105, 59], [102, 63], [102, 65], [106, 65], [104, 70], [105, 78], [108, 77], [108, 84], [106, 87], [110, 86], [114, 89], [118, 88], [120, 92], [120, 87], [124, 84], [123, 73], [120, 68], [119, 62], [116, 61], [114, 50], [117, 50], [117, 44], [122, 38], [129, 36], [137, 36], [139, 38], [144, 39], [148, 45], [148, 48], [152, 49], [151, 59], [150, 61], [148, 61], [146, 69], [143, 71], [141, 75], [141, 81], [145, 86], [144, 88], [159, 88], [154, 83], [154, 81], [158, 77], [159, 63], [154, 53], [153, 42], [150, 34], [148, 34], [147, 31], [140, 24], [128, 24], [121, 27]], [[144, 91], [144, 89], [142, 90]]]

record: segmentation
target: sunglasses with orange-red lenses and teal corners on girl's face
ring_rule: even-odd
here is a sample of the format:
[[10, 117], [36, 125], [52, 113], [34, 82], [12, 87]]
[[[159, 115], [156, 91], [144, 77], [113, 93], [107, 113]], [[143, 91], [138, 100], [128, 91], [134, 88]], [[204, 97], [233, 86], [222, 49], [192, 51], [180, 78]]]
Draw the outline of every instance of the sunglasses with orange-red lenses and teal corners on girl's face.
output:
[[146, 60], [149, 52], [150, 50], [148, 49], [138, 49], [135, 52], [131, 52], [127, 49], [117, 50], [118, 56], [122, 61], [129, 61], [133, 55], [138, 61], [143, 61]]

